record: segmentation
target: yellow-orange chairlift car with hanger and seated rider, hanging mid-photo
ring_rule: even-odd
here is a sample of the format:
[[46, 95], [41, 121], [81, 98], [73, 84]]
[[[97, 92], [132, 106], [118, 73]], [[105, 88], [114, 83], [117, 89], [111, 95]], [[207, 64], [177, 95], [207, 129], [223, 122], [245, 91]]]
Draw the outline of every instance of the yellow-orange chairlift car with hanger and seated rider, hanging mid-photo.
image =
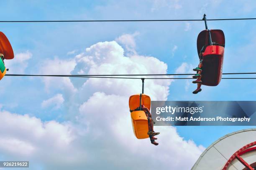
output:
[[157, 138], [154, 136], [159, 135], [159, 133], [154, 132], [153, 120], [149, 111], [151, 107], [151, 99], [148, 95], [143, 94], [144, 78], [141, 80], [142, 93], [132, 95], [129, 98], [133, 133], [138, 139], [150, 138], [152, 144], [158, 145], [158, 143], [155, 142]]

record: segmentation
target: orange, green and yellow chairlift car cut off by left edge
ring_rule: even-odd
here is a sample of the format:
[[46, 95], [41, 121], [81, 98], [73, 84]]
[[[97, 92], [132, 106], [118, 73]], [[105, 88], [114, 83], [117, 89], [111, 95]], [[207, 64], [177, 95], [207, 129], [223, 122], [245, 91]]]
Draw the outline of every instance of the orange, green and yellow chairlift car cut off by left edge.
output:
[[5, 76], [6, 69], [4, 59], [10, 60], [14, 58], [13, 48], [3, 32], [0, 32], [0, 80]]

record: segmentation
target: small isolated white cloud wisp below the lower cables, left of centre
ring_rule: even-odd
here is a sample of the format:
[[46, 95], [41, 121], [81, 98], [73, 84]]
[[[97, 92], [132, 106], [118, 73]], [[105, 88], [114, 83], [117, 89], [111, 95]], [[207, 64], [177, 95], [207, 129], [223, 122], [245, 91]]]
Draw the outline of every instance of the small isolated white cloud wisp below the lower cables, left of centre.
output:
[[54, 109], [59, 109], [63, 102], [64, 102], [63, 95], [57, 94], [54, 97], [44, 100], [41, 103], [41, 107], [43, 107], [43, 108], [54, 107]]

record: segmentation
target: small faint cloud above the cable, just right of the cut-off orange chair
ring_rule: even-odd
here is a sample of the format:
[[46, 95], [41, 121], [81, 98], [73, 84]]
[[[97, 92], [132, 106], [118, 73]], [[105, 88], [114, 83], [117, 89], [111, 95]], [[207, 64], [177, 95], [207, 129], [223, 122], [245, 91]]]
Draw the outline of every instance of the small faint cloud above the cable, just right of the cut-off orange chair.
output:
[[24, 74], [31, 57], [32, 53], [26, 51], [16, 54], [12, 60], [5, 60], [5, 66], [9, 68], [8, 74]]

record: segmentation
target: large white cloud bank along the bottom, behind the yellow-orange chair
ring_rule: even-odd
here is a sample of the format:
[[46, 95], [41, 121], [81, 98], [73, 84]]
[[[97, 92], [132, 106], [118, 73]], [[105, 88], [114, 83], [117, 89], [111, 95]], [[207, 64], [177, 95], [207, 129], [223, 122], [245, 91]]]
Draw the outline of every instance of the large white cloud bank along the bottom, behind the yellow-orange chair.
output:
[[157, 147], [148, 139], [137, 140], [126, 96], [95, 92], [80, 105], [77, 120], [76, 124], [43, 122], [0, 111], [1, 154], [6, 159], [29, 160], [31, 168], [39, 164], [44, 169], [63, 170], [106, 166], [112, 170], [164, 170], [189, 169], [204, 150], [183, 140], [174, 127], [155, 127], [161, 132]]

